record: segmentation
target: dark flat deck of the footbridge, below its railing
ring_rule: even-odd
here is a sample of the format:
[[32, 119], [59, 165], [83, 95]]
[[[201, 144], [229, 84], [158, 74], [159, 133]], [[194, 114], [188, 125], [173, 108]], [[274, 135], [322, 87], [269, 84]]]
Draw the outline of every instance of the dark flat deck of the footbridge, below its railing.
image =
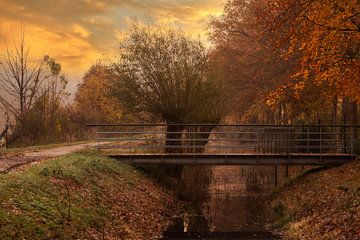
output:
[[183, 165], [337, 165], [354, 160], [352, 154], [108, 154], [130, 164]]

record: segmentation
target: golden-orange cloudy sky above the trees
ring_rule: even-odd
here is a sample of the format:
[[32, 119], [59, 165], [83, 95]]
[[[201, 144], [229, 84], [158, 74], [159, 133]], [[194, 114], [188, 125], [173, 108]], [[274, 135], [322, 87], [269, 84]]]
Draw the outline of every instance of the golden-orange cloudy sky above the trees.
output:
[[[61, 63], [70, 91], [98, 59], [114, 52], [133, 21], [177, 24], [205, 41], [225, 0], [0, 0], [0, 54], [25, 28], [32, 55]], [[207, 44], [207, 43], [206, 43]]]

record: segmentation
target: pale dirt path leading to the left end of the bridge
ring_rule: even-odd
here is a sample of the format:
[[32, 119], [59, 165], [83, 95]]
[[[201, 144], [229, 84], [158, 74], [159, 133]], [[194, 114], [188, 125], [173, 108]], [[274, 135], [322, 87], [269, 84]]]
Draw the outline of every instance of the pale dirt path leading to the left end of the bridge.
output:
[[0, 156], [0, 174], [11, 172], [14, 169], [18, 169], [19, 167], [33, 162], [63, 156], [88, 147], [94, 147], [97, 144], [98, 143], [83, 143], [66, 147], [27, 152], [15, 156]]

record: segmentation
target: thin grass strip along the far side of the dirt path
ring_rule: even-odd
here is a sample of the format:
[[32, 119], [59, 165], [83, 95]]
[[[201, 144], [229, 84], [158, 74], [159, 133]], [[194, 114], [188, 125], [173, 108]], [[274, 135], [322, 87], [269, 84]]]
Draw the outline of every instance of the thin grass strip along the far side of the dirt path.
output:
[[80, 141], [80, 142], [70, 142], [70, 143], [53, 143], [48, 145], [36, 145], [36, 146], [30, 146], [30, 147], [16, 147], [16, 148], [1, 148], [0, 149], [0, 157], [3, 155], [11, 156], [11, 155], [19, 155], [24, 154], [26, 152], [34, 152], [34, 151], [40, 151], [40, 150], [46, 150], [51, 148], [58, 148], [58, 147], [67, 147], [67, 146], [73, 146], [78, 144], [85, 144], [90, 143], [91, 141]]

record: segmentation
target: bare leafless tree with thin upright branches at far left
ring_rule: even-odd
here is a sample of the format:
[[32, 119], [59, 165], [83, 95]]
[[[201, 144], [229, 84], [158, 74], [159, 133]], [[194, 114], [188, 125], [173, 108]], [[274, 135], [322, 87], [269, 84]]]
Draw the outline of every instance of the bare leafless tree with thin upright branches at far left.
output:
[[0, 103], [20, 125], [46, 78], [46, 67], [46, 58], [31, 59], [23, 29], [19, 43], [14, 40], [14, 50], [6, 45], [0, 56]]

